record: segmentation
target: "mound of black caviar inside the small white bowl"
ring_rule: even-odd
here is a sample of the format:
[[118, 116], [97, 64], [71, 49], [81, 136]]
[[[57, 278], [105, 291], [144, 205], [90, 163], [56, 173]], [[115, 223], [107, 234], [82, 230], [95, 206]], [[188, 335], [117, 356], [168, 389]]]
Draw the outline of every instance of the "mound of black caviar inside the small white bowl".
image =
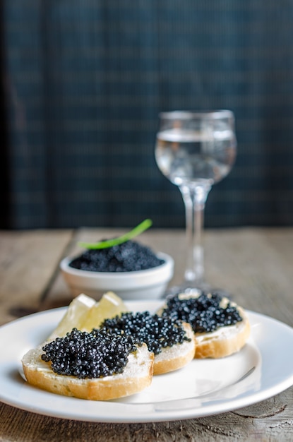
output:
[[158, 258], [150, 247], [129, 240], [106, 249], [88, 249], [69, 265], [92, 272], [132, 272], [154, 268], [163, 263], [165, 261]]

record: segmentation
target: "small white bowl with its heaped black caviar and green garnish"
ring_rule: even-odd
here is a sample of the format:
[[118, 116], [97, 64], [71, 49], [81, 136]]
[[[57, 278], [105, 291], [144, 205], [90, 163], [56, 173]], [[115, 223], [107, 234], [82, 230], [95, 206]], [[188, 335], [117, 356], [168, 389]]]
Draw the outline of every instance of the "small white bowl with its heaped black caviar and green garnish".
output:
[[[126, 237], [127, 239], [128, 237]], [[118, 242], [118, 244], [116, 244]], [[121, 299], [159, 299], [174, 273], [174, 260], [167, 253], [133, 239], [117, 239], [90, 244], [78, 256], [67, 256], [60, 263], [61, 273], [73, 297], [85, 293], [100, 299], [105, 292], [115, 292]], [[112, 244], [112, 245], [111, 245]]]

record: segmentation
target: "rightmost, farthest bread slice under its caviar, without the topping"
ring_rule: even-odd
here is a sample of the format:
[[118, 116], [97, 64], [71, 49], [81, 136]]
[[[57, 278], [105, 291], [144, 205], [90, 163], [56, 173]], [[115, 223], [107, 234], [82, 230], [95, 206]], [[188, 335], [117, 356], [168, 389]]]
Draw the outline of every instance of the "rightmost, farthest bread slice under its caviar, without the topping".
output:
[[[199, 295], [200, 294], [196, 292], [189, 294], [182, 293], [179, 294], [179, 299], [197, 298]], [[194, 333], [196, 341], [194, 357], [196, 359], [227, 357], [230, 354], [239, 352], [239, 350], [241, 350], [246, 344], [250, 335], [249, 318], [244, 309], [234, 302], [229, 301], [226, 297], [222, 297], [220, 306], [225, 308], [228, 303], [237, 308], [242, 321], [239, 321], [234, 325], [217, 328], [210, 333]], [[162, 314], [165, 307], [166, 304], [162, 306], [157, 313]]]

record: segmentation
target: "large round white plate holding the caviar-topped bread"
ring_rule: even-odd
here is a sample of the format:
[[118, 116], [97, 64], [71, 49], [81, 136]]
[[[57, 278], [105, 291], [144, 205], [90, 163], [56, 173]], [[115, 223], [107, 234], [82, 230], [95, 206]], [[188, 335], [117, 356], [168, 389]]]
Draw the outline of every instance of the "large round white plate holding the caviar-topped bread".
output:
[[[129, 301], [133, 311], [155, 311], [160, 301]], [[193, 360], [155, 376], [142, 393], [95, 402], [38, 390], [20, 376], [20, 359], [51, 333], [65, 309], [35, 313], [0, 328], [0, 400], [39, 414], [90, 422], [158, 422], [203, 417], [246, 407], [293, 384], [293, 328], [248, 312], [251, 338], [224, 359]], [[282, 345], [280, 343], [282, 342]]]

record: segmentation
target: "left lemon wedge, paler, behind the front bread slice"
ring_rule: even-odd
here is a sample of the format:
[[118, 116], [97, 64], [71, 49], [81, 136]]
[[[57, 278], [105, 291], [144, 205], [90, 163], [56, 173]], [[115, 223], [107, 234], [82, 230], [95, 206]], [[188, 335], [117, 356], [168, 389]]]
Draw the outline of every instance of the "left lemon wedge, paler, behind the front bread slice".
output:
[[71, 332], [74, 327], [80, 330], [83, 323], [86, 321], [90, 309], [92, 309], [95, 304], [95, 299], [92, 299], [83, 293], [79, 294], [78, 297], [74, 298], [68, 305], [66, 313], [64, 313], [61, 321], [51, 335], [49, 335], [47, 340], [54, 340], [57, 337], [62, 338], [66, 333]]

